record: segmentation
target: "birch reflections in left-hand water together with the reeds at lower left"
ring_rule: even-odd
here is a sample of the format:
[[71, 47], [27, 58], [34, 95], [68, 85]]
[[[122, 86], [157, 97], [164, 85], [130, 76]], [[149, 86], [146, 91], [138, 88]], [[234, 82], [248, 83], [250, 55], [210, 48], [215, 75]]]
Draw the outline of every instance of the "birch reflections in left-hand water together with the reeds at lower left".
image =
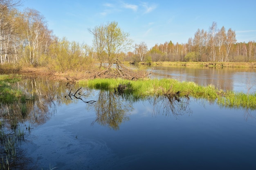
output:
[[67, 88], [65, 83], [45, 78], [29, 78], [12, 86], [22, 91], [22, 96], [12, 102], [0, 103], [0, 167], [26, 169], [24, 166], [30, 158], [20, 145], [27, 141], [34, 126], [44, 124], [56, 113], [56, 105], [66, 102], [61, 94]]

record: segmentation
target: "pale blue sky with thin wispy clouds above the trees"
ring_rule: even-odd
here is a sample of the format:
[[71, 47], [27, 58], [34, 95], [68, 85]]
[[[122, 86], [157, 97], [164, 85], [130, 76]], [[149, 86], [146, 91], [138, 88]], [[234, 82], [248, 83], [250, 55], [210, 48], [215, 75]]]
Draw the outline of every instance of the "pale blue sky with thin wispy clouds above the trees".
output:
[[92, 45], [88, 28], [117, 22], [134, 44], [187, 43], [198, 29], [236, 32], [237, 42], [256, 41], [256, 0], [22, 0], [20, 11], [35, 9], [59, 38]]

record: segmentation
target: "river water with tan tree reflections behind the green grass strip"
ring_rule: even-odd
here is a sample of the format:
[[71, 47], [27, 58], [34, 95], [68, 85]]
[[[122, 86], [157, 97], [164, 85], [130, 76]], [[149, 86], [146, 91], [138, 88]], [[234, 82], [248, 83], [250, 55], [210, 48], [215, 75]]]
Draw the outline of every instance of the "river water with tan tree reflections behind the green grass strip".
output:
[[185, 66], [153, 66], [152, 78], [175, 78], [199, 85], [244, 93], [256, 92], [256, 68], [206, 68]]

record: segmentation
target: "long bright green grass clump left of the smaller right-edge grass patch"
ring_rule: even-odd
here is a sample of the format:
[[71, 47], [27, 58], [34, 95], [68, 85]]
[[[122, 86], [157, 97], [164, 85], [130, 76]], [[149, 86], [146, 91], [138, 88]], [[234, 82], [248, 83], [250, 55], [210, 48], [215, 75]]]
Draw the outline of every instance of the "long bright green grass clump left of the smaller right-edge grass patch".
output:
[[123, 79], [93, 79], [80, 81], [79, 85], [85, 85], [92, 89], [114, 90], [119, 84], [126, 85], [125, 93], [144, 98], [146, 96], [164, 95], [167, 91], [171, 93], [180, 92], [181, 96], [193, 96], [195, 98], [207, 98], [214, 100], [218, 96], [218, 90], [214, 86], [199, 86], [193, 82], [180, 82], [175, 79], [148, 79], [128, 81]]

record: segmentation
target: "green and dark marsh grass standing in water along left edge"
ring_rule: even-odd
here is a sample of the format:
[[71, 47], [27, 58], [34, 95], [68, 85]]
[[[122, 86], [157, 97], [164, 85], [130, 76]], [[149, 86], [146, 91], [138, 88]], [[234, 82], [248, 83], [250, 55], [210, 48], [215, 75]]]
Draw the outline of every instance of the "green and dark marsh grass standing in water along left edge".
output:
[[[20, 90], [11, 86], [19, 80], [20, 76], [0, 75], [0, 169], [12, 167], [16, 162], [18, 144], [24, 140], [24, 130], [20, 128], [18, 118], [13, 114], [18, 103], [22, 103], [20, 99], [24, 98]], [[26, 109], [25, 105], [20, 107], [22, 110]]]

